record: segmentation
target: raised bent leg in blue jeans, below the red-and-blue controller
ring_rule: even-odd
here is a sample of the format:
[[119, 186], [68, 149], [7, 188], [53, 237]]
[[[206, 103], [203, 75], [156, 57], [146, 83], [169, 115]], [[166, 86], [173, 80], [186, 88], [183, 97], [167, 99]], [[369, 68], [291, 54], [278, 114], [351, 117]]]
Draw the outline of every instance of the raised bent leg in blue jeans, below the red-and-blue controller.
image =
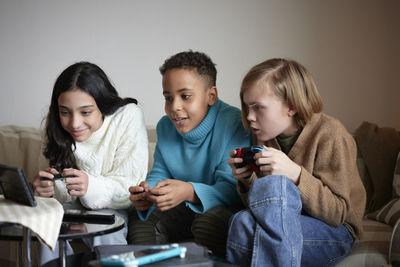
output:
[[300, 266], [302, 203], [297, 186], [281, 175], [257, 179], [248, 203], [255, 220], [251, 266]]

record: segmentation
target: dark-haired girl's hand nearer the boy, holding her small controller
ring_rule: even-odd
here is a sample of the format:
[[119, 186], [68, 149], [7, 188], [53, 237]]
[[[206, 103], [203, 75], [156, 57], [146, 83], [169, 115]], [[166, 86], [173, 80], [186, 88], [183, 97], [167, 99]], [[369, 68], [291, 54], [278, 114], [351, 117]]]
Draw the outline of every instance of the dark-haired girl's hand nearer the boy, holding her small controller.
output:
[[85, 172], [69, 168], [64, 169], [61, 174], [62, 176], [71, 176], [69, 178], [65, 178], [68, 194], [78, 197], [83, 197], [86, 195], [89, 184], [89, 176]]

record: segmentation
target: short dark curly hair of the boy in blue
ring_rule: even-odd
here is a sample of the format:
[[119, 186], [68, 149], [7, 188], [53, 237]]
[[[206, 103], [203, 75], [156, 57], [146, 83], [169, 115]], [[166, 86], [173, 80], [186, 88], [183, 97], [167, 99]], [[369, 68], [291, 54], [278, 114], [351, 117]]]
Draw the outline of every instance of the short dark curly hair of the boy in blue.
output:
[[202, 52], [192, 50], [180, 52], [166, 59], [160, 67], [161, 75], [170, 69], [191, 69], [201, 76], [209, 87], [215, 86], [217, 82], [217, 69], [211, 58]]

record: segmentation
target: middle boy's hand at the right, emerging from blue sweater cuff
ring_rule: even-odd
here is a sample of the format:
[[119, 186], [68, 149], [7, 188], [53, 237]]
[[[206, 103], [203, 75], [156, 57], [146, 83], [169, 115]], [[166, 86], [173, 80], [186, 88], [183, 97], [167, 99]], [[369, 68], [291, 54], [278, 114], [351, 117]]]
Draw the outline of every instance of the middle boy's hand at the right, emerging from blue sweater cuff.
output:
[[147, 199], [153, 202], [160, 211], [174, 208], [183, 201], [200, 202], [190, 183], [175, 179], [158, 182], [154, 188], [149, 189], [149, 193]]

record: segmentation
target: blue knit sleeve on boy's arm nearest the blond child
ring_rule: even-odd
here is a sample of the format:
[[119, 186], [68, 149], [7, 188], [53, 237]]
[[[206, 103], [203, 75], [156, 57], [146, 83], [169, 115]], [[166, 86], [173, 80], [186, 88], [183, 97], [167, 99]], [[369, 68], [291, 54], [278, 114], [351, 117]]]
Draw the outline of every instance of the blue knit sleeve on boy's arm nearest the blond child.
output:
[[186, 202], [194, 212], [204, 213], [216, 206], [231, 206], [240, 201], [236, 189], [236, 179], [232, 175], [232, 168], [228, 164], [229, 153], [238, 148], [250, 145], [250, 137], [240, 125], [235, 134], [231, 136], [230, 142], [225, 147], [222, 160], [214, 172], [214, 184], [194, 183], [194, 191], [200, 199], [201, 204]]

